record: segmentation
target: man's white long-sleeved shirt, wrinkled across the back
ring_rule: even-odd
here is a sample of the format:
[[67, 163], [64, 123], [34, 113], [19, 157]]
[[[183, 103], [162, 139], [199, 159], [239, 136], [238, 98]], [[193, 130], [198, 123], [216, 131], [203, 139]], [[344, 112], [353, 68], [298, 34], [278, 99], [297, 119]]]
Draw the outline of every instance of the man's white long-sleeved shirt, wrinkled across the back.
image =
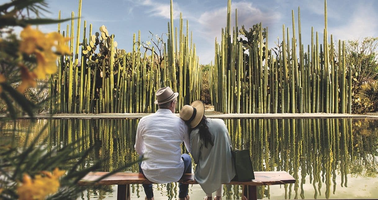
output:
[[158, 109], [139, 120], [134, 148], [144, 155], [141, 167], [148, 180], [154, 183], [180, 180], [184, 172], [182, 142], [191, 152], [188, 126], [169, 109]]

